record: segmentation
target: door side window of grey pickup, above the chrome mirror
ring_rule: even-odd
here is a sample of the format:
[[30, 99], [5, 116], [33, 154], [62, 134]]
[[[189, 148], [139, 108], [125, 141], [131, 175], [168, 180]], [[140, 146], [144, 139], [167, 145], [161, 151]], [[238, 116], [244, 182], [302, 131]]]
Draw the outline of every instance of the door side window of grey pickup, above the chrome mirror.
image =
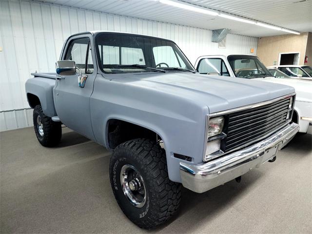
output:
[[74, 39], [67, 49], [65, 60], [73, 60], [83, 74], [91, 74], [94, 70], [90, 40]]

